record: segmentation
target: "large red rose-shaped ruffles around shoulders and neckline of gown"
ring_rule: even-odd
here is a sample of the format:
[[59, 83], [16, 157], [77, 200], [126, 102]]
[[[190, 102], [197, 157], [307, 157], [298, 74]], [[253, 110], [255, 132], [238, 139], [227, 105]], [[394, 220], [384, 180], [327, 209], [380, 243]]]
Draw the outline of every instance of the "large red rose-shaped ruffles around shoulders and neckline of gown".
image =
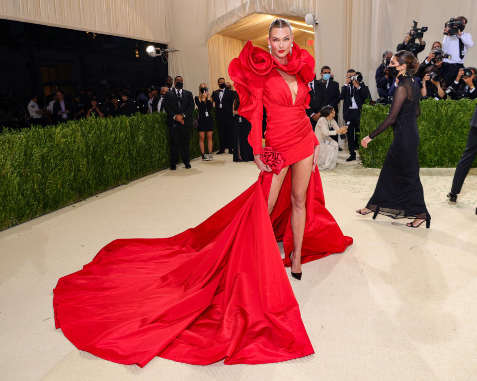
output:
[[307, 84], [315, 78], [315, 59], [305, 49], [292, 49], [288, 63], [280, 64], [271, 54], [248, 40], [239, 57], [229, 64], [229, 76], [240, 98], [240, 115], [249, 119], [247, 114], [261, 98], [265, 76], [275, 67], [291, 75], [299, 74]]

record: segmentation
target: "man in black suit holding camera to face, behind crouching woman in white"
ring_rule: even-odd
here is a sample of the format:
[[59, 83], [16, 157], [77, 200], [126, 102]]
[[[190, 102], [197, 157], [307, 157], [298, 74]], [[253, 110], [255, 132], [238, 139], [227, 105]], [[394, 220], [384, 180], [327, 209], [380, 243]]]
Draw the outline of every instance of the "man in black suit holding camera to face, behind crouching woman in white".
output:
[[368, 86], [363, 81], [358, 82], [351, 80], [356, 75], [356, 70], [349, 69], [346, 72], [346, 82], [341, 87], [339, 98], [343, 100], [343, 118], [348, 125], [349, 157], [346, 161], [356, 160], [356, 148], [358, 147], [358, 139], [356, 132], [359, 131], [359, 118], [361, 116], [361, 107], [368, 96], [370, 96]]

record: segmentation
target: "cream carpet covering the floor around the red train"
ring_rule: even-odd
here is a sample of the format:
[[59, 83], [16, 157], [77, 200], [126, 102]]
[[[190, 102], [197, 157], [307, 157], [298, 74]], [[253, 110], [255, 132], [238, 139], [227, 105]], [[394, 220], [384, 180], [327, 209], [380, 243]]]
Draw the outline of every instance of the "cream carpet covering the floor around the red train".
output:
[[[0, 232], [0, 380], [476, 380], [477, 171], [451, 205], [453, 169], [424, 169], [431, 229], [372, 220], [379, 175], [359, 162], [322, 172], [326, 204], [354, 245], [291, 279], [315, 348], [279, 364], [145, 368], [76, 349], [56, 330], [52, 289], [116, 238], [166, 237], [203, 221], [257, 178], [228, 154], [161, 171]], [[289, 273], [289, 270], [288, 270]]]

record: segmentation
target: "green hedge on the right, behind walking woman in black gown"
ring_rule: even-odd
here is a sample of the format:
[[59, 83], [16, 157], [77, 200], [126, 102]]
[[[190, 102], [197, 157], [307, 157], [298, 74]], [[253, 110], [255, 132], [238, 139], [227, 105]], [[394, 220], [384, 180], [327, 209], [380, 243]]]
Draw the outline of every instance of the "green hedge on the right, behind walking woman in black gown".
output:
[[[421, 101], [419, 128], [419, 164], [421, 167], [455, 167], [466, 146], [469, 122], [476, 106], [475, 100], [460, 99]], [[361, 113], [359, 140], [371, 133], [388, 114], [389, 106], [364, 105]], [[368, 145], [359, 147], [359, 155], [365, 167], [381, 168], [393, 141], [393, 128], [378, 135]], [[477, 166], [474, 163], [474, 166]]]

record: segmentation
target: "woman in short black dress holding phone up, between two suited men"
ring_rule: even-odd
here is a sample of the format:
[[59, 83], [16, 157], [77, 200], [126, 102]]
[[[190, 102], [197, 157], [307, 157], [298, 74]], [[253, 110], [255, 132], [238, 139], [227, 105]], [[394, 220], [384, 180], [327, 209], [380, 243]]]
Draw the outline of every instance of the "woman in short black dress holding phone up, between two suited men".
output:
[[[209, 94], [209, 88], [206, 83], [199, 85], [199, 96], [194, 98], [194, 102], [199, 109], [197, 117], [197, 130], [199, 131], [199, 148], [202, 152], [202, 160], [214, 160], [212, 157], [212, 133], [214, 132], [214, 122], [212, 120], [212, 100]], [[205, 153], [204, 139], [207, 133], [207, 148], [209, 154]]]

